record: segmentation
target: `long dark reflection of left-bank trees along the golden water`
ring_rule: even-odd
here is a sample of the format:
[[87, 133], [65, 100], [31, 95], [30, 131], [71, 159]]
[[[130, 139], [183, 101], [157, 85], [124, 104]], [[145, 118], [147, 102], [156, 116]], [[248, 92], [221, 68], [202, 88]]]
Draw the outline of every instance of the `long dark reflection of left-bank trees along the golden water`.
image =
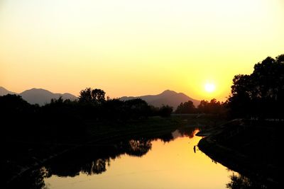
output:
[[[181, 134], [193, 137], [195, 128], [187, 128], [182, 130]], [[45, 168], [33, 171], [28, 176], [21, 178], [13, 188], [46, 188], [44, 178], [52, 175], [57, 176], [77, 176], [80, 172], [87, 175], [99, 174], [107, 171], [110, 166], [110, 160], [116, 159], [121, 154], [129, 154], [131, 156], [143, 156], [152, 147], [152, 141], [161, 139], [163, 142], [173, 140], [171, 132], [156, 135], [155, 137], [143, 137], [130, 140], [122, 140], [111, 142], [110, 144], [86, 146], [76, 151], [70, 151], [65, 155], [59, 156], [57, 159], [50, 161]], [[25, 187], [21, 187], [25, 184]]]

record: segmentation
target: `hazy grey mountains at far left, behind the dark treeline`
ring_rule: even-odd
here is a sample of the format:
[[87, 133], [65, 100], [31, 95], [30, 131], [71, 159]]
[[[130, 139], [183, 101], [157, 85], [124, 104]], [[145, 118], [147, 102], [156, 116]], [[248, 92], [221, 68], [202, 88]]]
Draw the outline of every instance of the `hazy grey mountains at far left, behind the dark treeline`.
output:
[[19, 96], [22, 96], [22, 98], [28, 103], [31, 104], [39, 104], [44, 105], [45, 103], [50, 103], [51, 99], [53, 98], [59, 98], [62, 96], [63, 99], [70, 99], [75, 100], [77, 99], [76, 96], [70, 94], [70, 93], [52, 93], [48, 90], [45, 90], [43, 88], [31, 88], [29, 90], [23, 91], [21, 93], [14, 93], [11, 91], [8, 91], [6, 88], [0, 86], [0, 96], [4, 96], [6, 94], [17, 94]]

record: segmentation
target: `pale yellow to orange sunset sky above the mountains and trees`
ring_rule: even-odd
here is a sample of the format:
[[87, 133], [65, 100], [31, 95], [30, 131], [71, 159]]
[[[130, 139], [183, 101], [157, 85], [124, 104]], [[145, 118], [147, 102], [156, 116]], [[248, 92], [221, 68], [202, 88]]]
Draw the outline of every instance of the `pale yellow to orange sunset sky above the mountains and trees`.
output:
[[0, 0], [0, 86], [225, 101], [283, 33], [283, 0]]

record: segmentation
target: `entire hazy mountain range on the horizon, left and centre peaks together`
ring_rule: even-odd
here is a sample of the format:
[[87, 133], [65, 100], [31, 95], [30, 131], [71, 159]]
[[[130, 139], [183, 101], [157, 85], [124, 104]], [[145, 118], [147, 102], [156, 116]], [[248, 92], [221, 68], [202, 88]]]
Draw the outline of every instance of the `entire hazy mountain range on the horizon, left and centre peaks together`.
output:
[[[62, 96], [63, 99], [70, 99], [75, 100], [77, 99], [76, 96], [70, 93], [52, 93], [47, 91], [43, 88], [31, 88], [29, 90], [23, 91], [21, 93], [14, 93], [12, 91], [8, 91], [6, 88], [0, 86], [0, 96], [4, 96], [6, 94], [17, 94], [22, 96], [22, 98], [28, 103], [35, 104], [38, 103], [39, 105], [44, 105], [45, 103], [50, 103], [51, 99], [59, 98]], [[187, 101], [192, 101], [195, 107], [200, 104], [200, 101], [197, 101], [189, 96], [185, 95], [184, 93], [177, 93], [175, 91], [166, 90], [163, 93], [158, 95], [146, 95], [146, 96], [123, 96], [119, 98], [121, 101], [131, 100], [133, 98], [141, 98], [147, 103], [154, 105], [156, 107], [160, 107], [162, 105], [170, 105], [174, 109], [180, 105], [180, 103], [184, 103]]]

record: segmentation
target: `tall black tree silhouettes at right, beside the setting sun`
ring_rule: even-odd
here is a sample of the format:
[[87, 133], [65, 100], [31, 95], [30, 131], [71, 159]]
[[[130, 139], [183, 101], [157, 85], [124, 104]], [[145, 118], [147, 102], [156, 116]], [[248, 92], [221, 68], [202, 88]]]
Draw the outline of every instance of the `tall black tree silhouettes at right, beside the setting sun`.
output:
[[234, 76], [228, 107], [235, 117], [283, 118], [284, 55], [267, 57], [250, 75]]

